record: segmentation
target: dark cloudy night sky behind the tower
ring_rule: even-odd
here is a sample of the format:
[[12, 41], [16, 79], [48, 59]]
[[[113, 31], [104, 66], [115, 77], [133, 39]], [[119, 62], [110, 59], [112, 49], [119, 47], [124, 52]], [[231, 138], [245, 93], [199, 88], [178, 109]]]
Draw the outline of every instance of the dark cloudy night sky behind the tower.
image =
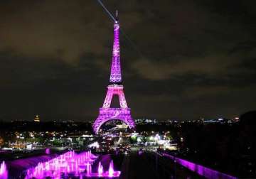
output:
[[[119, 10], [137, 119], [233, 118], [256, 105], [255, 0], [103, 1]], [[96, 0], [0, 1], [0, 119], [97, 117], [112, 20]]]

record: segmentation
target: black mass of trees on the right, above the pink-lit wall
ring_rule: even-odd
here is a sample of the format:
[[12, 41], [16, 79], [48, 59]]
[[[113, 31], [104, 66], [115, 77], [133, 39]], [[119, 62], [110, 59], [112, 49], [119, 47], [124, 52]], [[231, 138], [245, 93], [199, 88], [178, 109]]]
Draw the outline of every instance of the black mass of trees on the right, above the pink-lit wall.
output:
[[137, 131], [170, 131], [178, 152], [188, 161], [240, 178], [256, 178], [256, 112], [240, 116], [235, 124], [191, 122], [140, 125]]

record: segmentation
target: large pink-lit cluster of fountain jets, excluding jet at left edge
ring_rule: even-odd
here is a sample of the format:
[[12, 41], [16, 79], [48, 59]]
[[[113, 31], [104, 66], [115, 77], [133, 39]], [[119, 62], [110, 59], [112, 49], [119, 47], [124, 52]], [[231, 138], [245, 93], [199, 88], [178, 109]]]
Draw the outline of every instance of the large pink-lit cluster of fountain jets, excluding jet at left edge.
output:
[[[34, 168], [26, 170], [26, 179], [37, 178], [62, 178], [63, 176], [76, 176], [83, 178], [118, 178], [120, 171], [114, 170], [113, 161], [110, 162], [109, 170], [104, 172], [102, 164], [99, 162], [97, 173], [92, 173], [92, 163], [95, 163], [97, 156], [90, 151], [75, 153], [68, 151], [56, 158], [43, 163], [38, 163]], [[1, 179], [1, 178], [0, 178]], [[5, 179], [5, 178], [4, 178]]]

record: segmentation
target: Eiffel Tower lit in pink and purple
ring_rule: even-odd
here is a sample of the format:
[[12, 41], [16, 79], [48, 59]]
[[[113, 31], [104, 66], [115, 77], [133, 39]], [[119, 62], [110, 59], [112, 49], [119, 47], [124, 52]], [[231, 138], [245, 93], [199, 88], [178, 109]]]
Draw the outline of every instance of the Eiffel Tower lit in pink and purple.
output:
[[[118, 95], [119, 97], [119, 108], [110, 107], [112, 97], [114, 95]], [[122, 85], [119, 48], [119, 22], [117, 17], [116, 21], [114, 21], [114, 44], [110, 72], [110, 85], [107, 86], [107, 95], [103, 107], [100, 108], [100, 114], [92, 126], [95, 134], [98, 134], [102, 124], [113, 119], [124, 121], [124, 123], [129, 126], [129, 129], [133, 129], [135, 127], [134, 120], [131, 116], [131, 109], [127, 106], [127, 102], [124, 97], [124, 86]]]

